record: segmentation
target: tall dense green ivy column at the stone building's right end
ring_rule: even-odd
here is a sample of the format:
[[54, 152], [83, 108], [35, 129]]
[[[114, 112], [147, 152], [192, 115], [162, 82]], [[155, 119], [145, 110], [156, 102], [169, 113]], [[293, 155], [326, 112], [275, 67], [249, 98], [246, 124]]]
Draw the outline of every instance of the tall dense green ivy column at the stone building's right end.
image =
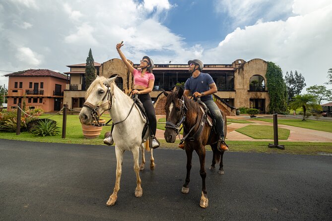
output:
[[266, 85], [270, 103], [268, 113], [280, 113], [287, 110], [287, 88], [282, 78], [281, 68], [273, 62], [267, 62]]

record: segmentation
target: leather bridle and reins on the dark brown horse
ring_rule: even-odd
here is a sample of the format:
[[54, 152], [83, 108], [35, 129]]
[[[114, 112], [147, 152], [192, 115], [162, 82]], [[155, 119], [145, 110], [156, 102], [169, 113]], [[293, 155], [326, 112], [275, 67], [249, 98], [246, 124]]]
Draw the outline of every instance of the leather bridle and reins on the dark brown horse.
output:
[[[174, 129], [176, 131], [176, 135], [179, 135], [179, 138], [180, 138], [180, 130], [182, 129], [182, 127], [180, 128], [180, 126], [186, 120], [186, 113], [187, 113], [188, 109], [187, 109], [187, 107], [185, 105], [185, 99], [184, 99], [183, 96], [182, 96], [181, 99], [178, 99], [178, 100], [181, 101], [181, 103], [182, 103], [182, 105], [181, 105], [181, 115], [182, 115], [182, 117], [181, 117], [181, 119], [179, 120], [179, 122], [176, 125], [174, 123], [170, 122], [170, 121], [166, 121], [165, 128]], [[182, 144], [188, 138], [189, 134], [194, 130], [194, 128], [196, 128], [199, 125], [198, 130], [191, 137], [189, 137], [190, 141], [194, 141], [195, 137], [200, 135], [200, 133], [201, 133], [203, 127], [204, 127], [206, 118], [207, 118], [207, 113], [206, 113], [206, 110], [205, 110], [203, 112], [202, 116], [201, 116], [200, 121], [197, 121], [196, 124], [190, 128], [190, 130], [187, 133], [187, 135], [184, 136], [181, 139], [180, 144]]]

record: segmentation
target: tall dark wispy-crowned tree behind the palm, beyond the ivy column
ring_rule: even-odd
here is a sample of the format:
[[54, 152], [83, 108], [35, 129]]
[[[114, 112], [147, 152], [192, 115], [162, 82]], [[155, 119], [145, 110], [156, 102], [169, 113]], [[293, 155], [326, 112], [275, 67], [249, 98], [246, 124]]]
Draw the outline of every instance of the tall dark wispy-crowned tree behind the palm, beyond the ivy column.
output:
[[291, 100], [295, 95], [301, 93], [302, 89], [306, 86], [304, 81], [304, 77], [301, 73], [298, 73], [297, 70], [295, 70], [294, 75], [293, 71], [290, 71], [290, 73], [288, 73], [288, 71], [286, 72], [285, 83], [287, 86], [288, 100]]

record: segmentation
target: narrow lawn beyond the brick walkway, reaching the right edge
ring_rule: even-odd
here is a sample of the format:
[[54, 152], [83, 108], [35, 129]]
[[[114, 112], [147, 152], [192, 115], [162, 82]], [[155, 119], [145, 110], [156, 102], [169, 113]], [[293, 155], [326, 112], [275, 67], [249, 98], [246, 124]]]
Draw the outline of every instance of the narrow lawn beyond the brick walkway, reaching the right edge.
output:
[[[257, 118], [256, 120], [273, 122], [273, 119]], [[318, 120], [302, 121], [302, 119], [278, 119], [278, 124], [285, 124], [289, 126], [303, 127], [307, 129], [320, 130], [332, 133], [332, 122], [328, 121], [318, 121]]]

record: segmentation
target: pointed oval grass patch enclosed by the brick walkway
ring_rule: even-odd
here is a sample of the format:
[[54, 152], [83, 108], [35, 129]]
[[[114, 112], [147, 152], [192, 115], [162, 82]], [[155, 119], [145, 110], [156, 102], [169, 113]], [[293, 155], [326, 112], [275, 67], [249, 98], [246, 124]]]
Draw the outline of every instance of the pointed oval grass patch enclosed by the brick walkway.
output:
[[[268, 125], [248, 125], [236, 130], [244, 135], [254, 139], [273, 139], [273, 126]], [[278, 128], [279, 140], [287, 140], [289, 137], [289, 130]]]

